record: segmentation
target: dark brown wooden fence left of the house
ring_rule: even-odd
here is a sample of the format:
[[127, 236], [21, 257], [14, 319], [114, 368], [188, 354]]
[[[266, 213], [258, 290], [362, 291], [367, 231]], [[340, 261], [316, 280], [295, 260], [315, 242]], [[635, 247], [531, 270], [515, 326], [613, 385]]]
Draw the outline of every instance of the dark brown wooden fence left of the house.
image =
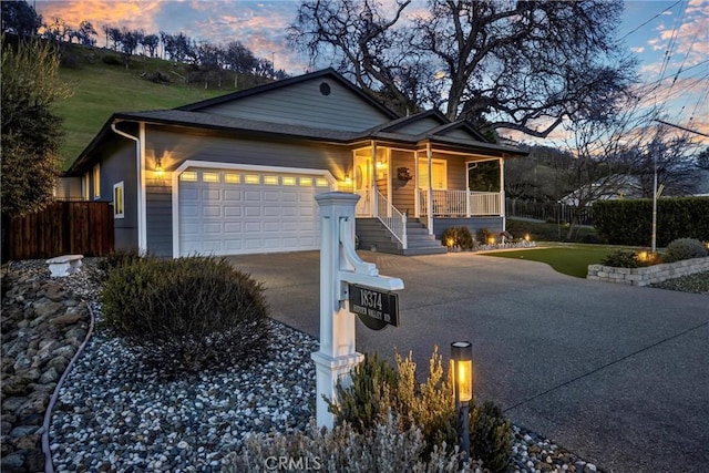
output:
[[55, 202], [43, 210], [12, 218], [3, 233], [3, 259], [105, 256], [113, 250], [113, 209], [106, 202]]

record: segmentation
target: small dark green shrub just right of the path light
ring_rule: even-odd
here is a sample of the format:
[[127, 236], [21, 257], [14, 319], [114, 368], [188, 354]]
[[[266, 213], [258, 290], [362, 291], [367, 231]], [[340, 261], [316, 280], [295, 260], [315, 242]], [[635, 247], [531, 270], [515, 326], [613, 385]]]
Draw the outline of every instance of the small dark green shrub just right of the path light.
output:
[[512, 461], [512, 423], [494, 402], [474, 405], [470, 418], [471, 456], [492, 473], [504, 473]]

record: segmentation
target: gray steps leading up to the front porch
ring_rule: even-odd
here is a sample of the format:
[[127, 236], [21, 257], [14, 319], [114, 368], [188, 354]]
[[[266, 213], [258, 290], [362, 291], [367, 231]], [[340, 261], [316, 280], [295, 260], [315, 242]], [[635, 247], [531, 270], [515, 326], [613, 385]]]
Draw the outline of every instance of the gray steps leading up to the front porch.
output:
[[428, 229], [418, 219], [407, 222], [407, 249], [401, 248], [401, 243], [377, 218], [358, 218], [356, 233], [359, 247], [362, 249], [377, 246], [377, 251], [407, 256], [439, 255], [448, 251], [440, 240], [429, 235]]

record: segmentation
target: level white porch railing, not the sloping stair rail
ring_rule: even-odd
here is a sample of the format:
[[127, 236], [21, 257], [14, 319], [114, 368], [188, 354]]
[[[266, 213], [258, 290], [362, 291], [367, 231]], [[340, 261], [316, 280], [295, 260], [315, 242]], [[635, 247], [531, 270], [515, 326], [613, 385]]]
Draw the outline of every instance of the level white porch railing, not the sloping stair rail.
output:
[[[429, 215], [425, 189], [418, 189], [421, 215]], [[433, 191], [434, 217], [481, 217], [502, 215], [499, 192]]]

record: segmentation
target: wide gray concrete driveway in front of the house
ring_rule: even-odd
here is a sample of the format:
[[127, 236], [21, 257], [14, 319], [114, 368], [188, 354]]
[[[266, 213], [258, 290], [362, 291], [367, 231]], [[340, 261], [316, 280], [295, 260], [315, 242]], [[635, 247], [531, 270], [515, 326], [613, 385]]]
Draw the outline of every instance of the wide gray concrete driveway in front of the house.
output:
[[[401, 327], [357, 326], [358, 351], [473, 342], [475, 392], [517, 425], [613, 472], [709, 471], [709, 297], [573, 278], [471, 253], [360, 253], [400, 277]], [[319, 254], [232, 257], [276, 319], [318, 336]]]

